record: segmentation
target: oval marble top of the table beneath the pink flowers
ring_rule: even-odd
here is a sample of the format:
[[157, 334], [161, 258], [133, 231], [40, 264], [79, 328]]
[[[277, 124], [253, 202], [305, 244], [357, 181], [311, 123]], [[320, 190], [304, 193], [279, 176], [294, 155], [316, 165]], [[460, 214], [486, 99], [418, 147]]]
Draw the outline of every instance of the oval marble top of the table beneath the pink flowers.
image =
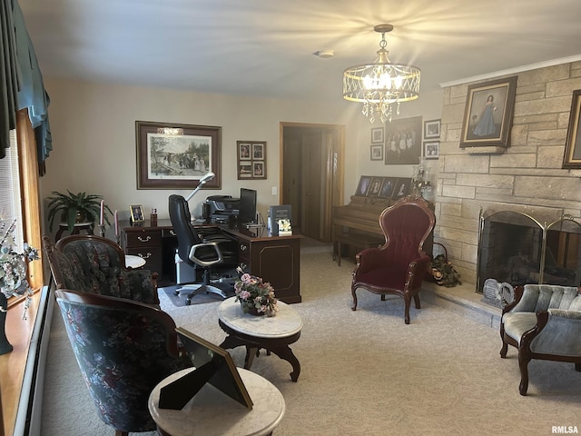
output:
[[302, 329], [302, 319], [291, 305], [279, 301], [279, 312], [275, 316], [255, 316], [242, 312], [235, 297], [224, 300], [218, 306], [218, 318], [236, 332], [257, 338], [286, 338]]

